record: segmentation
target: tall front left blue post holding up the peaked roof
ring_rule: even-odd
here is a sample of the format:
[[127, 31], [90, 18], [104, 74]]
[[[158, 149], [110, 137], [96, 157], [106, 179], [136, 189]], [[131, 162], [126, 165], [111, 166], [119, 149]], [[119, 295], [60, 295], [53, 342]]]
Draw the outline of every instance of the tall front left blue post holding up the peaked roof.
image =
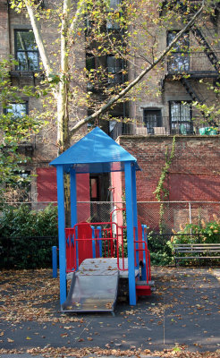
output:
[[57, 175], [57, 209], [59, 235], [59, 265], [60, 265], [60, 303], [66, 300], [66, 263], [65, 263], [65, 210], [64, 210], [64, 178], [63, 166], [56, 166]]

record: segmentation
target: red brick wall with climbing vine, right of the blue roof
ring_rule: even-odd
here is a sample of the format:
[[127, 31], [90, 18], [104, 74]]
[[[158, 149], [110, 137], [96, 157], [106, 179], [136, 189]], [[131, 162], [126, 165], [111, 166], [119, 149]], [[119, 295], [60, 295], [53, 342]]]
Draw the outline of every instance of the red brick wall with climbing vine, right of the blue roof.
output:
[[[137, 200], [156, 200], [154, 191], [171, 136], [123, 136], [120, 144], [142, 169], [137, 173]], [[167, 200], [220, 201], [220, 136], [176, 137], [175, 153], [166, 183]]]

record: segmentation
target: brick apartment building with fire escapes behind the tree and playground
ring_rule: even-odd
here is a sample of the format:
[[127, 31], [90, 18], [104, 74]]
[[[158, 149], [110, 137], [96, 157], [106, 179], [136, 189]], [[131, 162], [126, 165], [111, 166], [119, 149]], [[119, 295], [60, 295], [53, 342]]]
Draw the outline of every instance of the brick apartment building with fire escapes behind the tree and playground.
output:
[[[45, 9], [49, 7], [47, 0], [43, 4]], [[120, 0], [111, 0], [111, 11], [117, 12], [122, 4]], [[159, 19], [163, 13], [171, 10], [172, 4], [175, 2], [163, 2], [162, 6], [155, 8], [154, 16]], [[195, 13], [194, 6], [198, 4], [199, 1], [183, 1], [178, 7], [179, 16], [183, 19], [189, 10], [186, 6], [190, 6], [191, 14]], [[140, 2], [139, 12], [143, 16], [148, 16], [146, 6], [145, 2]], [[19, 64], [11, 71], [14, 84], [34, 85], [39, 81], [35, 73], [40, 71], [40, 58], [30, 21], [23, 13], [15, 13], [6, 0], [0, 0], [0, 8], [0, 56], [14, 55], [18, 60]], [[190, 18], [189, 14], [187, 16]], [[216, 128], [219, 119], [212, 118], [209, 124], [206, 119], [206, 124], [201, 124], [204, 113], [193, 107], [195, 101], [201, 105], [218, 103], [217, 94], [213, 89], [217, 87], [219, 79], [220, 47], [219, 42], [215, 40], [219, 36], [219, 21], [219, 7], [213, 5], [212, 15], [206, 15], [193, 25], [176, 43], [173, 52], [160, 68], [150, 72], [146, 80], [148, 83], [141, 82], [138, 100], [120, 103], [110, 111], [111, 121], [100, 122], [114, 140], [120, 136], [120, 144], [139, 160], [143, 171], [138, 175], [138, 200], [156, 200], [153, 192], [165, 165], [165, 150], [172, 146], [173, 134], [177, 134], [177, 138], [172, 166], [167, 175], [168, 200], [220, 200], [219, 136], [199, 135], [199, 129], [203, 126]], [[154, 29], [150, 29], [154, 30], [155, 34], [150, 41], [155, 40], [156, 54], [163, 51], [175, 34], [182, 30], [181, 21], [168, 23], [163, 28], [157, 28], [154, 24]], [[43, 37], [52, 43], [55, 39], [55, 27], [43, 23], [40, 23], [40, 26]], [[133, 42], [137, 41], [137, 38], [144, 38], [141, 17], [136, 18], [132, 30], [133, 34], [138, 34], [133, 36]], [[121, 36], [120, 29], [114, 22], [106, 24], [106, 31], [109, 36]], [[142, 42], [146, 44], [148, 41], [148, 38], [144, 38]], [[29, 43], [30, 47], [24, 49], [22, 42]], [[85, 51], [80, 46], [78, 55], [78, 69], [87, 66], [96, 70], [100, 65], [106, 66], [110, 78], [108, 84], [110, 81], [111, 85], [134, 79], [140, 73], [141, 66], [145, 64], [144, 55], [134, 56], [133, 63], [128, 64], [115, 55], [96, 58], [88, 49]], [[127, 72], [126, 76], [123, 76], [125, 67]], [[89, 90], [94, 89], [90, 87]], [[103, 93], [101, 90], [94, 90], [94, 96], [102, 98]], [[17, 112], [44, 110], [42, 102], [36, 98], [22, 98], [21, 104], [13, 105], [14, 111]], [[78, 110], [80, 116], [83, 116], [91, 109], [80, 107]], [[122, 121], [124, 118], [126, 123]], [[84, 131], [87, 130], [86, 127]], [[56, 156], [55, 143], [55, 125], [50, 125], [32, 138], [30, 143], [22, 144], [27, 155], [32, 158], [26, 171], [28, 174], [36, 175], [32, 180], [30, 192], [35, 206], [43, 201], [56, 200], [55, 171], [48, 167], [48, 163]], [[106, 186], [103, 185], [104, 182]], [[112, 183], [107, 176], [103, 179], [96, 175], [81, 176], [78, 183], [78, 200], [110, 200], [110, 186], [117, 188], [119, 197], [122, 193], [122, 185], [119, 189], [121, 176], [118, 174], [114, 175]], [[116, 195], [115, 190], [114, 194]], [[115, 197], [114, 200], [119, 200], [119, 197]]]

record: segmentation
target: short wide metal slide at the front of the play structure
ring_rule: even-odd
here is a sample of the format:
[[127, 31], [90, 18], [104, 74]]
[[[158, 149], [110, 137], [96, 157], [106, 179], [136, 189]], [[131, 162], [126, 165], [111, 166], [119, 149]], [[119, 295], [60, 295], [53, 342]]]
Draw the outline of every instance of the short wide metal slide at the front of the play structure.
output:
[[62, 311], [114, 311], [118, 279], [118, 269], [111, 266], [108, 259], [84, 260], [79, 270], [73, 272], [70, 291], [62, 305]]

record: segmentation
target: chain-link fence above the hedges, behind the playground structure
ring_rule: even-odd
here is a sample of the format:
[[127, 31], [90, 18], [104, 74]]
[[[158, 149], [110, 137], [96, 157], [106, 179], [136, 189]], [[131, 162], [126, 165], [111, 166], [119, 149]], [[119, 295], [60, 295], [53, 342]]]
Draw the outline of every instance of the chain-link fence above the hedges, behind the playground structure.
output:
[[[31, 209], [45, 209], [48, 204], [56, 202], [23, 202], [11, 203], [14, 207], [29, 205]], [[139, 201], [138, 217], [141, 224], [148, 226], [148, 231], [162, 234], [173, 234], [180, 231], [186, 224], [199, 224], [220, 220], [220, 201]], [[108, 222], [114, 209], [125, 207], [124, 202], [111, 201], [79, 201], [77, 203], [78, 222]], [[118, 211], [113, 221], [122, 224], [123, 215]]]

